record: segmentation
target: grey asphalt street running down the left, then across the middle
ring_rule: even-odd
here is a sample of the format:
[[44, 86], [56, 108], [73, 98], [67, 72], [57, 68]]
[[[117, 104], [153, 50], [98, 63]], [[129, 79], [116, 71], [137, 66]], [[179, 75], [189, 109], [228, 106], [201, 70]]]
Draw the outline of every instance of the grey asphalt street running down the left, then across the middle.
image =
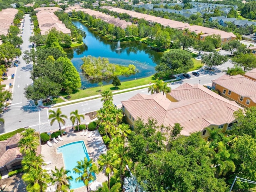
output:
[[[32, 48], [32, 44], [29, 42], [29, 37], [31, 33], [30, 17], [26, 14], [24, 30], [22, 34], [22, 39], [24, 43], [22, 44], [22, 52], [24, 50], [28, 50]], [[34, 103], [30, 100], [27, 100], [24, 96], [24, 87], [28, 84], [32, 83], [30, 79], [30, 70], [32, 70], [32, 64], [26, 64], [22, 59], [22, 56], [19, 59], [19, 66], [16, 70], [16, 76], [14, 79], [14, 87], [13, 87], [13, 100], [10, 108], [6, 110], [2, 114], [2, 118], [4, 118], [4, 130], [0, 130], [2, 132], [10, 132], [12, 130], [16, 130], [18, 128], [23, 127], [31, 127], [40, 132], [47, 132], [50, 130], [58, 129], [58, 124], [55, 122], [52, 126], [50, 126], [48, 116], [49, 110], [46, 108], [40, 108], [34, 105]], [[190, 79], [186, 79], [181, 76], [182, 80], [178, 82], [170, 83], [172, 89], [188, 82], [190, 84], [211, 84], [212, 80], [222, 76], [224, 74], [222, 71], [227, 67], [232, 67], [232, 63], [230, 61], [226, 62], [222, 66], [216, 68], [214, 72], [209, 70], [204, 70], [203, 68], [198, 70], [200, 72], [200, 76], [196, 77], [191, 75]], [[190, 72], [191, 74], [191, 72]], [[134, 90], [122, 94], [114, 95], [114, 103], [117, 105], [121, 104], [121, 101], [128, 100], [130, 97], [134, 96], [137, 93], [149, 94], [148, 88], [143, 88], [140, 90]], [[76, 104], [70, 104], [68, 106], [62, 106], [61, 111], [63, 114], [66, 114], [68, 117], [70, 116], [70, 112], [74, 110], [78, 110], [79, 114], [85, 114], [87, 112], [92, 112], [95, 110], [99, 110], [102, 107], [102, 102], [100, 99], [88, 100], [85, 102], [80, 102]], [[56, 108], [53, 108], [56, 110]], [[66, 126], [71, 126], [69, 118], [66, 121]]]

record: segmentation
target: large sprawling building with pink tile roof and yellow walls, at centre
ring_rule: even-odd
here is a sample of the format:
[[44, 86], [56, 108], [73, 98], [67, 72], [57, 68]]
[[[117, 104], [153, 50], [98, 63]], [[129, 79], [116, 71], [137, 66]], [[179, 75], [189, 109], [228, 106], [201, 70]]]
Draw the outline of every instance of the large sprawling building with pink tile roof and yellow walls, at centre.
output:
[[169, 94], [136, 94], [122, 101], [126, 121], [133, 128], [137, 118], [147, 121], [155, 118], [158, 125], [183, 126], [181, 134], [201, 132], [206, 140], [209, 133], [206, 127], [230, 130], [236, 121], [233, 113], [242, 109], [236, 102], [229, 101], [199, 84], [185, 83]]

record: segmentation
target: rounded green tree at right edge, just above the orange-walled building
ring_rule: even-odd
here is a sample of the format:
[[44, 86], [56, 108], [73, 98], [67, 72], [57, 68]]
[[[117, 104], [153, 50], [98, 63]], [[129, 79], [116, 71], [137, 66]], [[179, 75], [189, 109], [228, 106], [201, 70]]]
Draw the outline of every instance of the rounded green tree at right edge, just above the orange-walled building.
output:
[[256, 57], [252, 53], [240, 53], [233, 58], [232, 62], [244, 68], [244, 71], [256, 68]]

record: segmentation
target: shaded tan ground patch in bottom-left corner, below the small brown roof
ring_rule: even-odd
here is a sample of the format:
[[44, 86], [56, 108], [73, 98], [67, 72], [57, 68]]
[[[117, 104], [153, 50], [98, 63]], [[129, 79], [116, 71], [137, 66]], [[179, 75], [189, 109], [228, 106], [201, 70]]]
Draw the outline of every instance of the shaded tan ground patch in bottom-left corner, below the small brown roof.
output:
[[[10, 192], [26, 192], [26, 185], [24, 184], [22, 178], [22, 173], [14, 175], [12, 177], [0, 180], [0, 184], [6, 184], [6, 191]], [[8, 189], [8, 190], [7, 190]]]

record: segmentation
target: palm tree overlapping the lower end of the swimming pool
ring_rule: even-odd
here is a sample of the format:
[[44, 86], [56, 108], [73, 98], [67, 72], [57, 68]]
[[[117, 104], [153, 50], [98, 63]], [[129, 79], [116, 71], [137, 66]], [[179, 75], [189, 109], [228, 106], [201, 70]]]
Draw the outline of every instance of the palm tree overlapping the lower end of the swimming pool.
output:
[[83, 182], [89, 192], [89, 183], [95, 180], [95, 173], [98, 173], [98, 168], [92, 160], [88, 160], [87, 157], [84, 157], [84, 160], [77, 162], [77, 166], [73, 169], [74, 173], [79, 174], [80, 176], [76, 178], [76, 182]]

